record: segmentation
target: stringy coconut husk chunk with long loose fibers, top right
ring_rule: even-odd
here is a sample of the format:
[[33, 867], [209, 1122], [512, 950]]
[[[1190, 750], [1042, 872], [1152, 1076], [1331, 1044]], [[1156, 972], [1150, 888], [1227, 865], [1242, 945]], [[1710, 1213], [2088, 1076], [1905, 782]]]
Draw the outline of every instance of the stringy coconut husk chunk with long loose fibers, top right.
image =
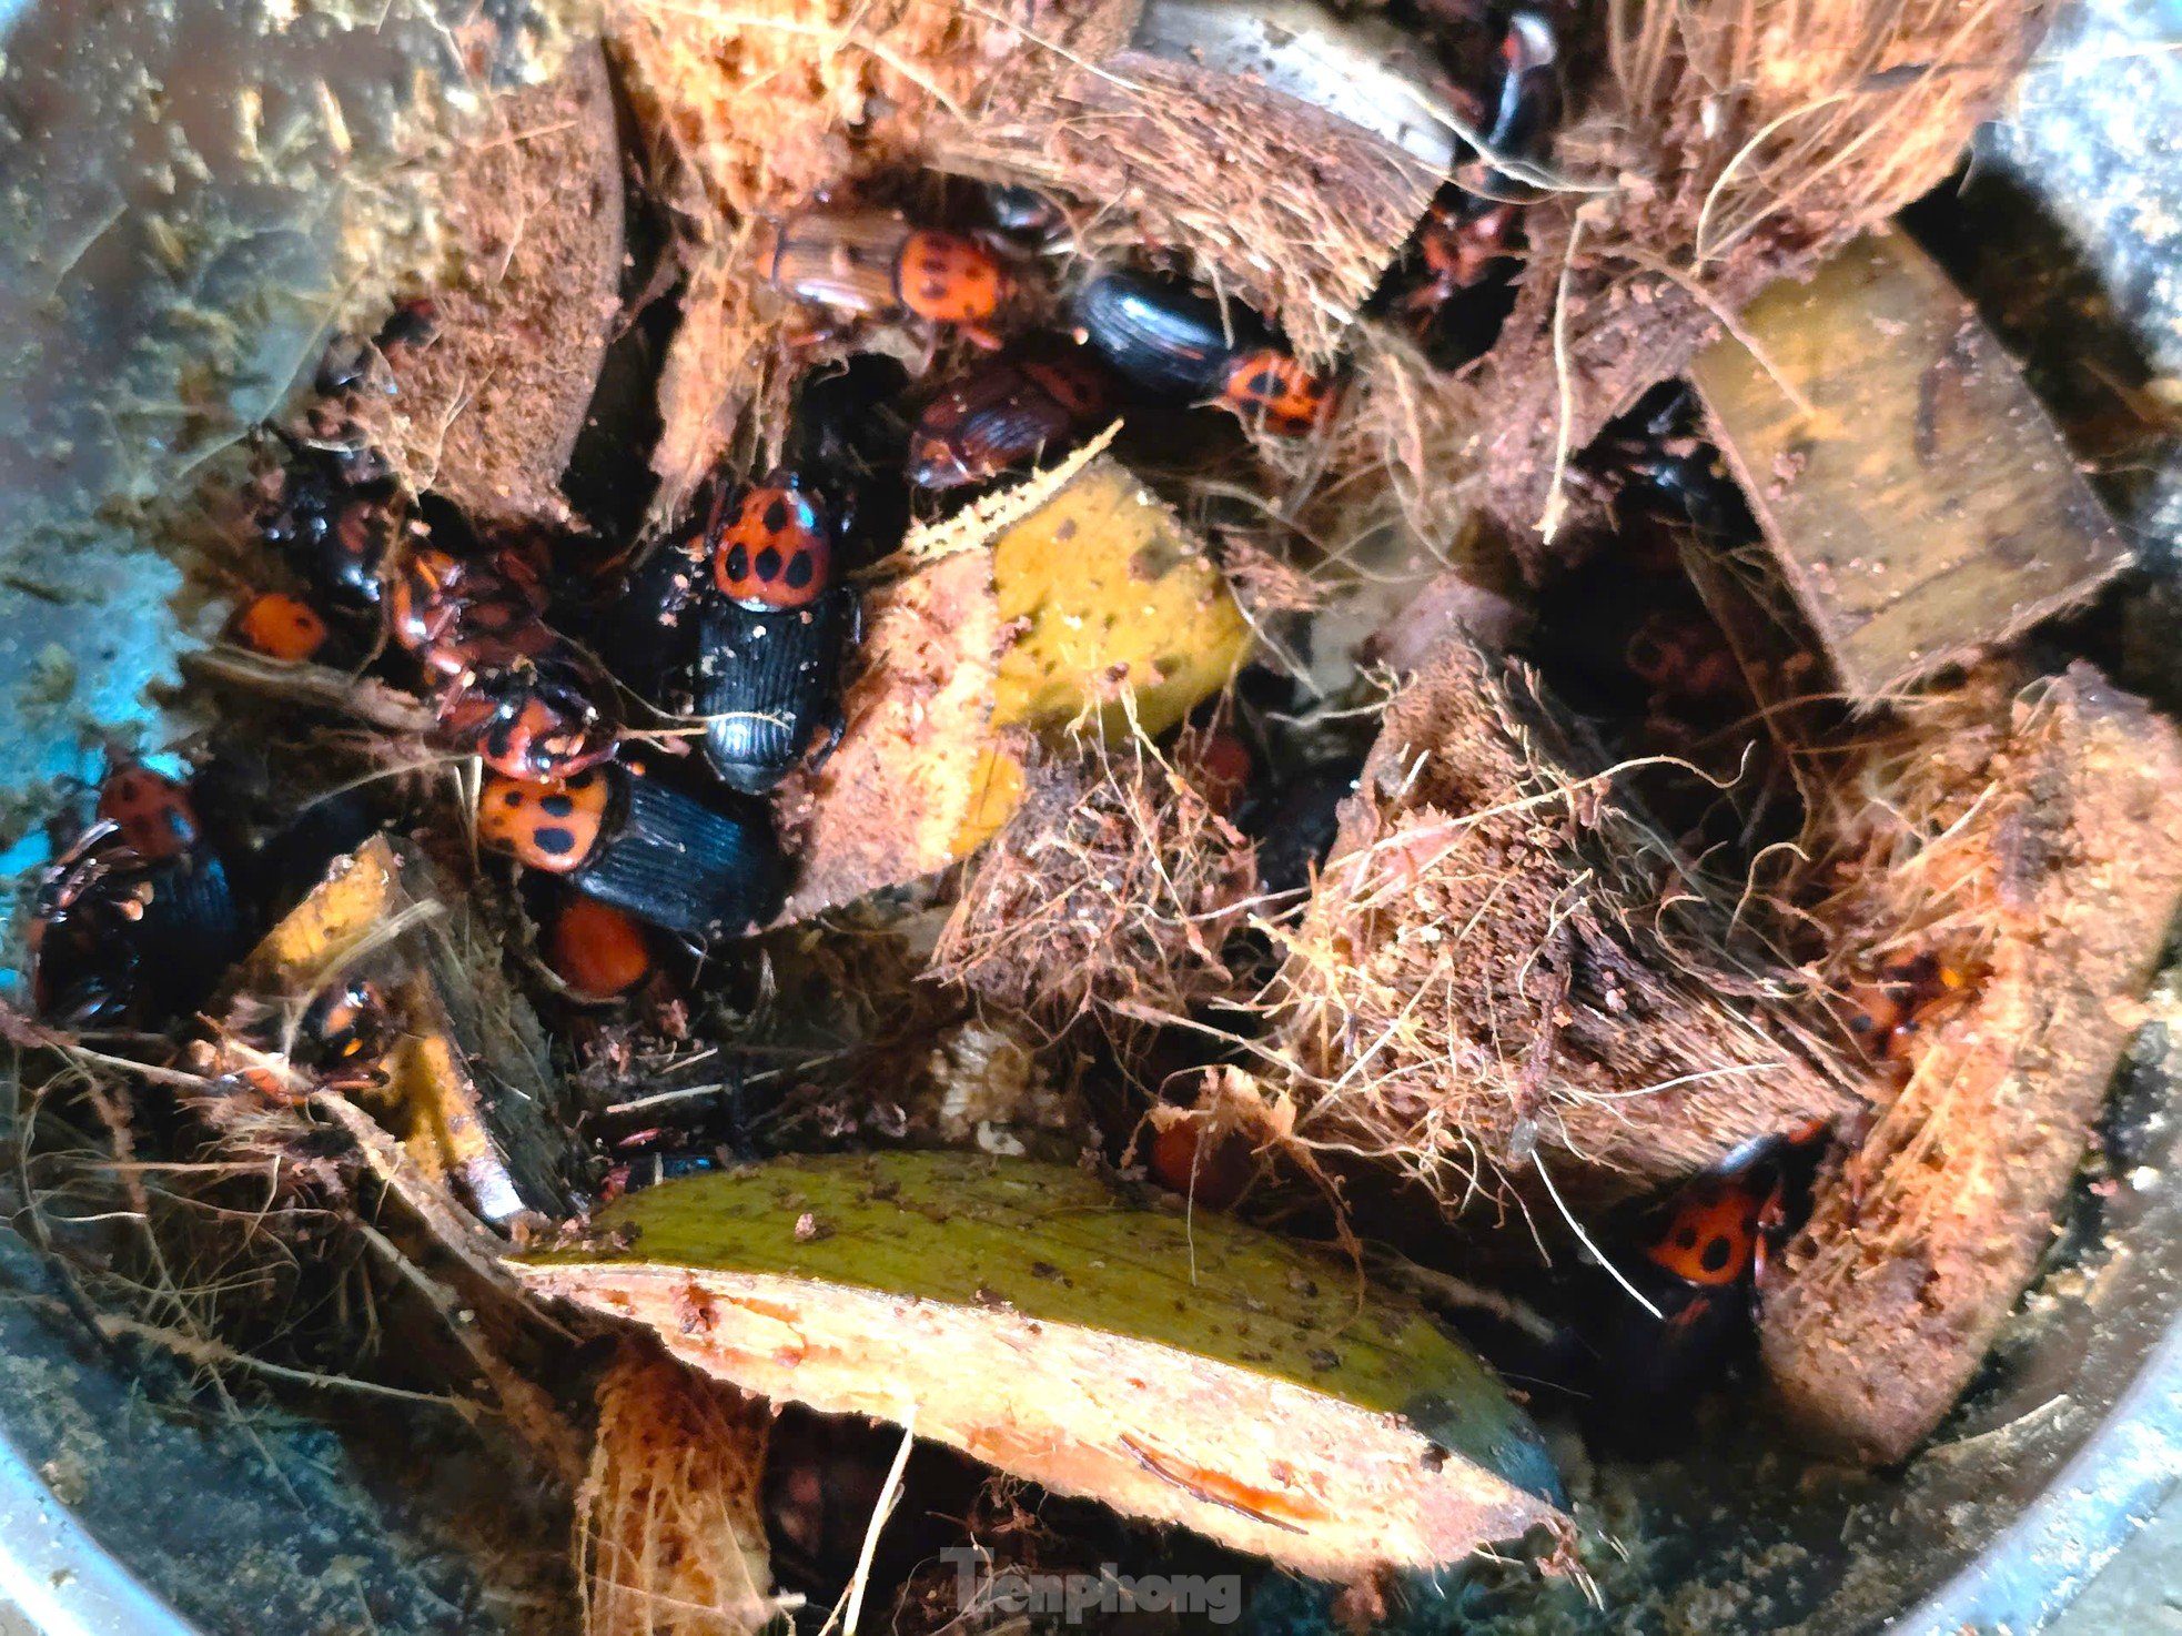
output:
[[[1750, 297], [1938, 185], [2005, 98], [2047, 0], [1617, 0], [1573, 87], [1564, 181], [1525, 212], [1492, 349], [1436, 375], [1364, 338], [1338, 467], [1427, 539], [1466, 502], [1554, 561], [1564, 460]], [[1425, 473], [1425, 476], [1416, 476]]]

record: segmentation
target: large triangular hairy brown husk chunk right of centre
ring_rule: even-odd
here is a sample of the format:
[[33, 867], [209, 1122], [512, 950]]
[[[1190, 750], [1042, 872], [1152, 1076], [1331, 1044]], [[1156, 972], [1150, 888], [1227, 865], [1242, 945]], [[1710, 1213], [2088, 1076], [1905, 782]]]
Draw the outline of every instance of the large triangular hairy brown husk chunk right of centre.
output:
[[1451, 643], [1388, 707], [1276, 984], [1298, 1134], [1449, 1206], [1534, 1165], [1610, 1198], [1855, 1106], [1791, 973], [1730, 953], [1556, 739], [1527, 674]]

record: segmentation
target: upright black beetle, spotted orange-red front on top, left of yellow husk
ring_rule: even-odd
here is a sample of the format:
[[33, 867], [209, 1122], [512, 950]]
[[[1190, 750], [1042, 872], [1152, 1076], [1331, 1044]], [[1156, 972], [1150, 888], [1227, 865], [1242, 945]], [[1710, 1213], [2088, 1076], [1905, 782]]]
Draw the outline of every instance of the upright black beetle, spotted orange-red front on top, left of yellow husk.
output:
[[733, 502], [722, 489], [703, 539], [714, 596], [694, 615], [692, 709], [705, 718], [711, 770], [755, 796], [801, 763], [820, 731], [840, 739], [840, 667], [862, 600], [836, 580], [831, 519], [794, 473], [777, 471]]

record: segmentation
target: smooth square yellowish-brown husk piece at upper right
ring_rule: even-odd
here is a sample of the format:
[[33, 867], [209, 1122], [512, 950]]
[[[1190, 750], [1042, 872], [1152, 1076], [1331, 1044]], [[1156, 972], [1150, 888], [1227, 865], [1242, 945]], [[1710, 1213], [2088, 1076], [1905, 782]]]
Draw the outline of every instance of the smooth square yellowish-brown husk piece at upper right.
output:
[[1905, 236], [1765, 292], [1743, 334], [1691, 380], [1853, 700], [1999, 648], [2127, 565], [2023, 371]]

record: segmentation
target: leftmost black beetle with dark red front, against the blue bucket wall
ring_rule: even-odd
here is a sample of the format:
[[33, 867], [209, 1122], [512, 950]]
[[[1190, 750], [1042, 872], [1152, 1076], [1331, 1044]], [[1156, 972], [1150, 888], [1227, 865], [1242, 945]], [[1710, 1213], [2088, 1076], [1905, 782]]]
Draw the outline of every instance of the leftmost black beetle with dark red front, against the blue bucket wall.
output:
[[31, 999], [61, 1023], [164, 1021], [196, 1006], [242, 947], [227, 866], [190, 794], [124, 761], [98, 816], [39, 881]]

